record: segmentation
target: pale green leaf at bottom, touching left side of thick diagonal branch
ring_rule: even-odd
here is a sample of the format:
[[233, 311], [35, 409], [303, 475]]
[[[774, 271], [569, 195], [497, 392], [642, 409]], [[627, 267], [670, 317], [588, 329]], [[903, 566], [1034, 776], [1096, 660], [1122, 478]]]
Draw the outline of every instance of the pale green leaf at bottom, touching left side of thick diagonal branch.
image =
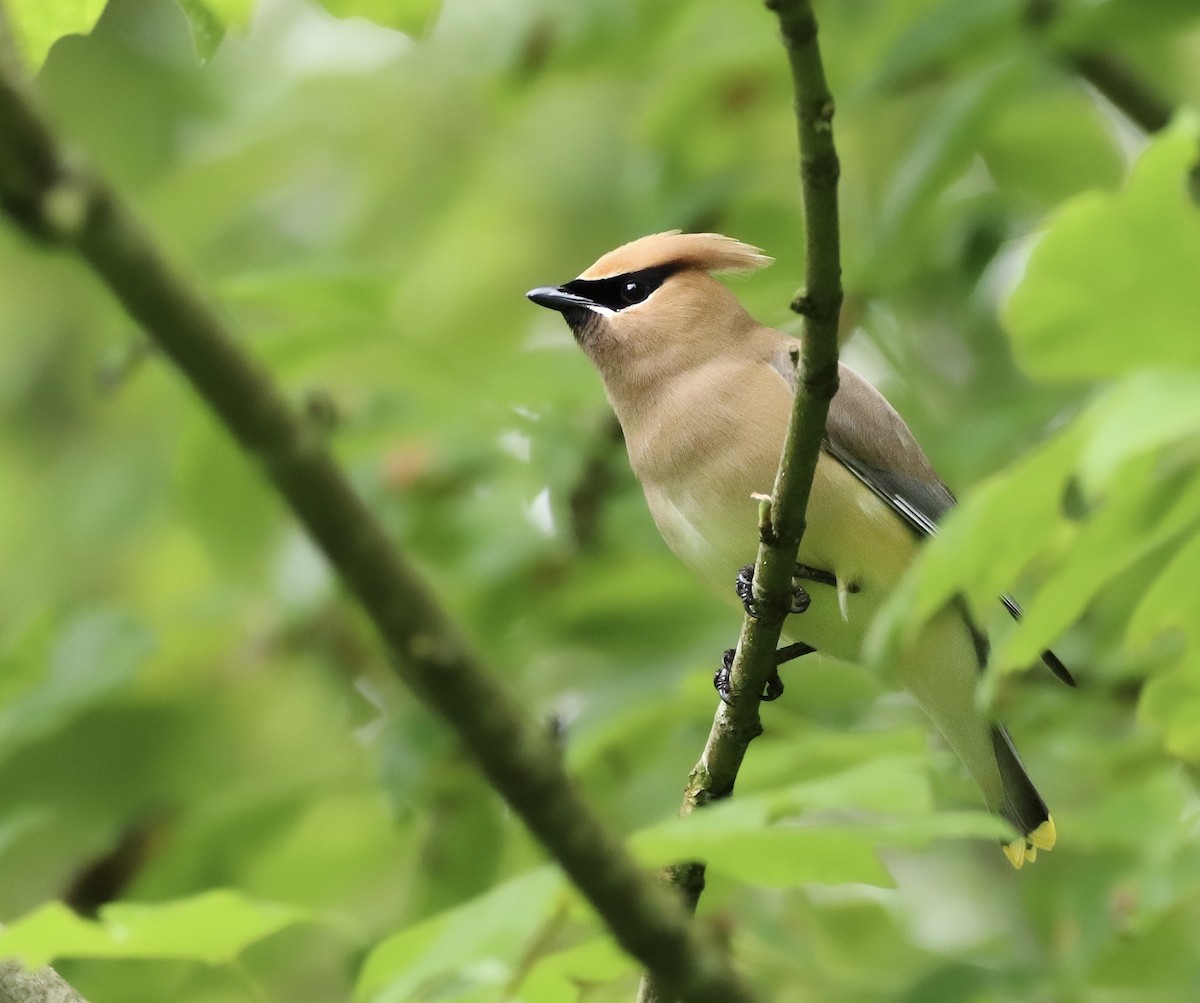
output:
[[367, 956], [355, 998], [456, 999], [480, 986], [505, 985], [562, 890], [558, 871], [540, 867], [395, 933]]

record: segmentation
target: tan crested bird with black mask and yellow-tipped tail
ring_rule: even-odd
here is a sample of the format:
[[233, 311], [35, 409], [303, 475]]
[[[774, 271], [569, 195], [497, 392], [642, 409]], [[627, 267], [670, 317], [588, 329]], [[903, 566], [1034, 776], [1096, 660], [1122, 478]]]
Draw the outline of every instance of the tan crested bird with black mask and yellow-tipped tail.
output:
[[[715, 233], [668, 230], [600, 257], [577, 278], [527, 293], [563, 316], [600, 374], [662, 539], [724, 595], [754, 559], [798, 380], [797, 338], [757, 323], [714, 274], [772, 264], [758, 247]], [[846, 661], [923, 541], [955, 504], [908, 426], [848, 366], [829, 406], [798, 561], [808, 608], [784, 633]], [[743, 582], [744, 587], [744, 582]], [[744, 596], [743, 596], [744, 597]], [[1013, 615], [1020, 608], [1003, 596]], [[1046, 651], [1063, 681], [1069, 672]], [[1016, 837], [1014, 867], [1055, 845], [1056, 829], [1008, 732], [976, 703], [986, 637], [966, 603], [948, 603], [895, 667]]]

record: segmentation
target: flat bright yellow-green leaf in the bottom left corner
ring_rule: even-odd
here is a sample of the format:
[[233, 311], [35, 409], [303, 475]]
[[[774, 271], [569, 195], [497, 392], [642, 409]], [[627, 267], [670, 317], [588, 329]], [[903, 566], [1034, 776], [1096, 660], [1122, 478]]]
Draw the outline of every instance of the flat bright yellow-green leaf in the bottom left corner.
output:
[[0, 957], [30, 968], [56, 957], [174, 959], [222, 965], [287, 926], [313, 919], [307, 909], [256, 902], [238, 891], [205, 891], [174, 902], [114, 902], [98, 921], [49, 902], [0, 931]]

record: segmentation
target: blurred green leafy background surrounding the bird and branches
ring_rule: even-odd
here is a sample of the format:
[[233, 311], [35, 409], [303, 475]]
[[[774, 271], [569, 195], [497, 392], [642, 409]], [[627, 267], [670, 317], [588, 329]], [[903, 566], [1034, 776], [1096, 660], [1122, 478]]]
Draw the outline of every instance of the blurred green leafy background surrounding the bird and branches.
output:
[[[1021, 872], [910, 702], [816, 656], [739, 798], [672, 821], [737, 613], [666, 553], [596, 378], [522, 293], [713, 228], [778, 258], [737, 288], [793, 325], [767, 11], [7, 6], [55, 121], [329, 426], [610, 823], [647, 863], [709, 855], [702, 914], [767, 998], [1195, 998], [1193, 0], [818, 5], [845, 354], [966, 503], [872, 651], [955, 591], [989, 618], [982, 698], [1060, 831]], [[1118, 114], [1081, 53], [1172, 125]], [[77, 264], [2, 228], [0, 337], [0, 954], [94, 1003], [630, 998], [632, 966], [187, 386]], [[1079, 691], [1008, 671], [1051, 641]]]

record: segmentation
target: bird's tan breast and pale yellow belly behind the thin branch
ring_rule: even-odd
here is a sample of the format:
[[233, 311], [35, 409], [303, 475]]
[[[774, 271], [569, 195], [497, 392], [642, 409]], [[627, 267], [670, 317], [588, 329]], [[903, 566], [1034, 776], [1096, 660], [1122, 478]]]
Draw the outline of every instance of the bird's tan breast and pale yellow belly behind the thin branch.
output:
[[[667, 546], [736, 602], [738, 570], [758, 548], [758, 503], [770, 492], [792, 410], [772, 366], [746, 358], [694, 366], [653, 395], [612, 392], [634, 473]], [[799, 560], [846, 587], [805, 585], [812, 602], [790, 618], [793, 639], [856, 660], [870, 620], [912, 560], [917, 541], [858, 478], [821, 452]], [[856, 589], [857, 591], [850, 591]]]

